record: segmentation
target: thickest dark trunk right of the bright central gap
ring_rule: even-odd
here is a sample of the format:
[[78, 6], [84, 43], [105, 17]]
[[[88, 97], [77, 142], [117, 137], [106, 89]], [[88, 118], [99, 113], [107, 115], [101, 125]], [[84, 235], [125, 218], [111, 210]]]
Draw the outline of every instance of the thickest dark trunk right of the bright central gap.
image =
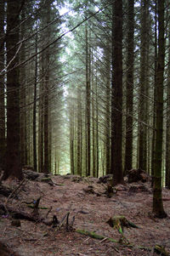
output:
[[113, 185], [123, 183], [122, 174], [122, 0], [113, 3], [111, 172]]

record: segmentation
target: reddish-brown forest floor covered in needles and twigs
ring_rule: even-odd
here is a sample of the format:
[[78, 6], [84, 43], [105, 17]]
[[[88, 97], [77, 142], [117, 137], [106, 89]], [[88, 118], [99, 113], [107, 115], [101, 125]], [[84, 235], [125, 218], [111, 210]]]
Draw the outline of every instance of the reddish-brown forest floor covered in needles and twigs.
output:
[[[99, 183], [99, 179], [73, 175], [56, 175], [51, 179], [52, 184], [26, 179], [18, 191], [18, 181], [3, 182], [17, 195], [17, 198], [0, 195], [0, 203], [6, 208], [31, 214], [31, 202], [42, 196], [39, 218], [45, 219], [48, 213], [49, 221], [54, 215], [61, 221], [69, 212], [70, 223], [75, 219], [69, 230], [65, 228], [66, 218], [63, 226], [53, 227], [47, 225], [48, 221], [42, 223], [26, 219], [21, 219], [20, 226], [15, 226], [10, 216], [0, 212], [0, 242], [7, 244], [16, 255], [158, 255], [154, 250], [156, 245], [165, 247], [167, 254], [161, 255], [170, 255], [170, 218], [153, 217], [150, 183], [118, 185], [116, 193], [109, 198], [105, 194], [105, 184]], [[165, 211], [170, 216], [170, 191], [163, 189], [162, 197]], [[139, 228], [124, 228], [122, 236], [106, 223], [117, 215], [125, 216]], [[95, 232], [103, 238], [98, 240], [77, 230]], [[111, 242], [108, 237], [117, 242]]]

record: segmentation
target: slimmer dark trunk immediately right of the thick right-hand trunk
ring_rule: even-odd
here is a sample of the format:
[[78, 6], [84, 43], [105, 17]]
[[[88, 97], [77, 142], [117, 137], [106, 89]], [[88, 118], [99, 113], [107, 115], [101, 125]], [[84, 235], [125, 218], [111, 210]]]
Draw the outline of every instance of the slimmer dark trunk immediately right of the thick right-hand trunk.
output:
[[126, 148], [125, 174], [133, 163], [133, 63], [134, 63], [134, 0], [128, 0], [127, 23], [127, 92], [126, 92]]

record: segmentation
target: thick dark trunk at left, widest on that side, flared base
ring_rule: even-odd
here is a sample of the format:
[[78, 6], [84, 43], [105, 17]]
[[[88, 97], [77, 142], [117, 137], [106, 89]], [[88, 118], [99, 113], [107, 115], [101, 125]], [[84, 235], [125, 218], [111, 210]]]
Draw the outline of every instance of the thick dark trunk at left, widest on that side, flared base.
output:
[[[19, 42], [20, 2], [7, 1], [7, 152], [3, 179], [22, 179], [20, 162], [20, 72], [16, 44]], [[13, 60], [13, 61], [12, 61]]]

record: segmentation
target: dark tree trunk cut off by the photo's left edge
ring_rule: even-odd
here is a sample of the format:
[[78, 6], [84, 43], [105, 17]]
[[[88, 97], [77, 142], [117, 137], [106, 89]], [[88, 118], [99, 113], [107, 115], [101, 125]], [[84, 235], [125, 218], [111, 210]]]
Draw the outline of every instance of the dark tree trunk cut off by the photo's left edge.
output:
[[[0, 4], [0, 46], [1, 55], [0, 55], [0, 71], [4, 70], [4, 0]], [[5, 160], [5, 148], [6, 148], [6, 139], [5, 139], [5, 77], [2, 74], [0, 76], [0, 168], [4, 168]]]

